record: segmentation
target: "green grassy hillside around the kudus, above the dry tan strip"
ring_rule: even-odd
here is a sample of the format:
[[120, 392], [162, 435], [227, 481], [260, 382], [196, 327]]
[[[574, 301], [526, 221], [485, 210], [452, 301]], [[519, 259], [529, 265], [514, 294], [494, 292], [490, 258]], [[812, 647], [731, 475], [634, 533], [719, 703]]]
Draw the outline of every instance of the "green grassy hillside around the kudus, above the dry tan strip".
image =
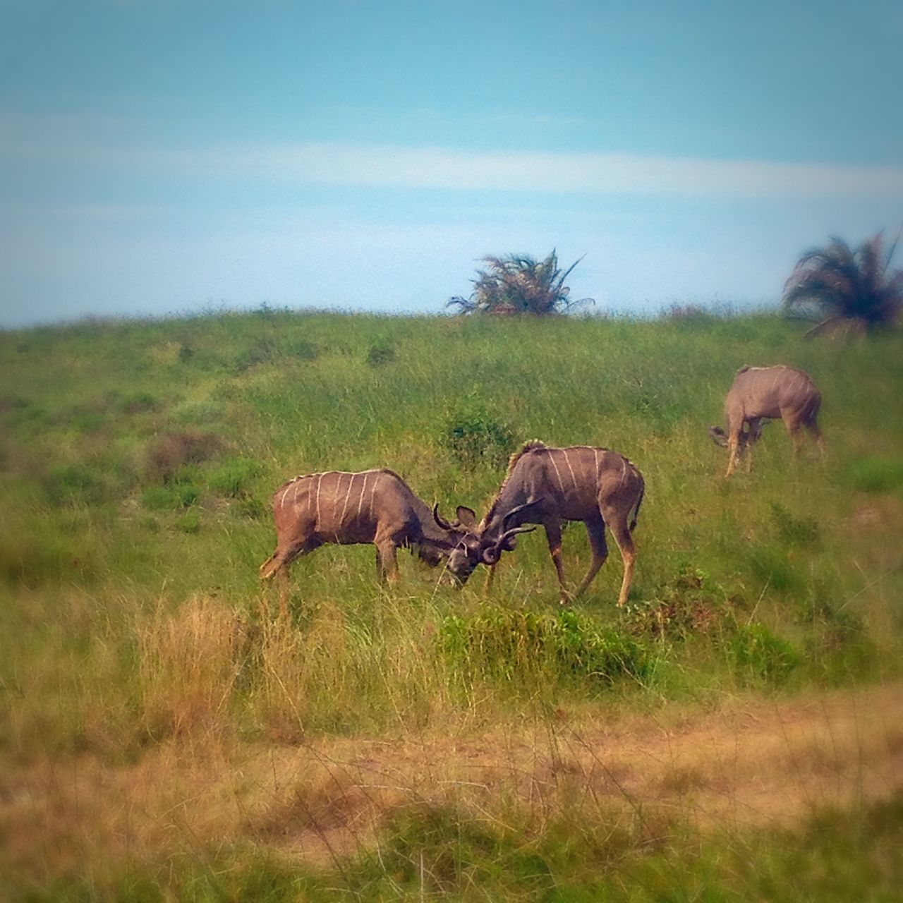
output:
[[[895, 679], [899, 335], [802, 331], [770, 315], [264, 309], [0, 333], [0, 756], [115, 769], [160, 749], [517, 731]], [[821, 387], [828, 456], [810, 445], [792, 460], [771, 424], [754, 469], [726, 480], [706, 427], [737, 368], [771, 363]], [[532, 438], [603, 445], [644, 474], [627, 610], [610, 544], [589, 594], [560, 613], [538, 531], [489, 596], [481, 572], [455, 591], [406, 554], [385, 591], [372, 547], [324, 547], [293, 566], [291, 623], [275, 618], [257, 567], [284, 479], [386, 466], [446, 513], [482, 513]], [[563, 542], [576, 582], [582, 526]]]

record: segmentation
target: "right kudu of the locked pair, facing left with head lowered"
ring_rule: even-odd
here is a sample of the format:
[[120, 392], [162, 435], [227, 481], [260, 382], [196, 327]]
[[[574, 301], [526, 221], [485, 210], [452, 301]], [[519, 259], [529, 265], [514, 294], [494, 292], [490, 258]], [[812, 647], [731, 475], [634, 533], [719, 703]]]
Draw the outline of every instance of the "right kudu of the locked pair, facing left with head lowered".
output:
[[[610, 529], [624, 561], [618, 604], [627, 601], [636, 551], [631, 533], [637, 526], [645, 484], [627, 458], [609, 449], [574, 445], [550, 448], [526, 442], [511, 456], [507, 476], [489, 513], [479, 525], [481, 558], [493, 569], [501, 554], [514, 548], [520, 524], [541, 524], [558, 574], [565, 604], [591, 583], [608, 557], [605, 528]], [[590, 536], [592, 562], [577, 590], [569, 592], [562, 564], [562, 521], [582, 520]], [[492, 572], [489, 573], [489, 582]]]

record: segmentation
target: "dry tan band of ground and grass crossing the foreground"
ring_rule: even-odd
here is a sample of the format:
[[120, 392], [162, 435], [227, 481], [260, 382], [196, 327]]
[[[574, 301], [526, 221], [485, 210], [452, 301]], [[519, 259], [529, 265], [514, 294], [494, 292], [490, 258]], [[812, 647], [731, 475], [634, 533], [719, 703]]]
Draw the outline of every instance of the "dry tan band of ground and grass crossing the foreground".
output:
[[701, 827], [789, 824], [903, 787], [903, 686], [720, 712], [457, 737], [314, 740], [293, 747], [156, 748], [135, 765], [46, 759], [0, 769], [0, 867], [33, 880], [110, 861], [250, 842], [325, 862], [372, 842], [408, 805], [503, 821], [660, 806]]

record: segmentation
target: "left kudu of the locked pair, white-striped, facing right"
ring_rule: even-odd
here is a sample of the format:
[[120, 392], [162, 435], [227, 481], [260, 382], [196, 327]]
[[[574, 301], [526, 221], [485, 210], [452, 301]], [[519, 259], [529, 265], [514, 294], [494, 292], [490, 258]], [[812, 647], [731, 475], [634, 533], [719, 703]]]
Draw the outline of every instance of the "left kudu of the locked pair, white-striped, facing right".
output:
[[327, 543], [376, 545], [381, 582], [396, 580], [396, 551], [402, 546], [416, 546], [431, 566], [447, 557], [448, 569], [459, 582], [479, 563], [473, 511], [459, 507], [458, 520], [449, 524], [438, 506], [431, 511], [392, 470], [333, 470], [295, 477], [273, 494], [273, 517], [276, 550], [260, 566], [263, 580], [286, 574], [295, 558]]

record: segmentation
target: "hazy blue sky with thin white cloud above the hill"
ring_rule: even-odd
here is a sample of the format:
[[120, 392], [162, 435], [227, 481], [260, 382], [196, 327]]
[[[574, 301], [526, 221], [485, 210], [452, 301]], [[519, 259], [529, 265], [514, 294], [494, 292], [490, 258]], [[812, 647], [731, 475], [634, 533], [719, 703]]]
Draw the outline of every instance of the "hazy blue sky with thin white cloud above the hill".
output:
[[777, 304], [903, 224], [901, 45], [898, 0], [0, 0], [0, 328], [440, 313], [553, 248], [597, 312]]

